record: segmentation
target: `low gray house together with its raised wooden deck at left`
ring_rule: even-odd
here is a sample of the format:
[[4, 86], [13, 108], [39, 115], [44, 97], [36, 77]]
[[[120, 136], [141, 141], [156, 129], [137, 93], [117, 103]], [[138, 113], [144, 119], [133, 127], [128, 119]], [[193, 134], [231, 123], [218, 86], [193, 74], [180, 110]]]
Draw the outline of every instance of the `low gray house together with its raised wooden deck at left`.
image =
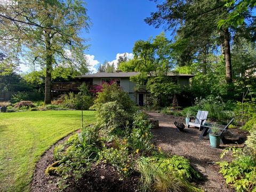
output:
[[[89, 75], [76, 76], [76, 82], [54, 82], [52, 84], [53, 92], [78, 92], [78, 87], [85, 83], [89, 89], [93, 85], [102, 85], [103, 82], [115, 81], [129, 97], [139, 106], [144, 106], [149, 95], [146, 85], [137, 86], [136, 83], [130, 81], [130, 77], [138, 75], [139, 72], [116, 72], [116, 73], [95, 73]], [[180, 85], [180, 87], [189, 86], [189, 78], [194, 75], [169, 73], [170, 81]]]

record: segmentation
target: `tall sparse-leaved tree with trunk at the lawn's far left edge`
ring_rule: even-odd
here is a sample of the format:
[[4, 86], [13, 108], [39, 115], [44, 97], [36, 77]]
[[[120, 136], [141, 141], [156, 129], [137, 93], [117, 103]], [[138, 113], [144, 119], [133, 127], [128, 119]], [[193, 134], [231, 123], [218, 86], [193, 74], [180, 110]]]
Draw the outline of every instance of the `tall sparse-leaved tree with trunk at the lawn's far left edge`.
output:
[[[1, 6], [1, 35], [13, 38], [18, 52], [28, 55], [30, 63], [45, 69], [45, 99], [51, 103], [52, 70], [60, 63], [86, 66], [85, 41], [78, 36], [90, 22], [82, 1], [21, 1], [8, 9]], [[0, 40], [10, 46], [9, 38]], [[25, 49], [22, 49], [24, 47]]]

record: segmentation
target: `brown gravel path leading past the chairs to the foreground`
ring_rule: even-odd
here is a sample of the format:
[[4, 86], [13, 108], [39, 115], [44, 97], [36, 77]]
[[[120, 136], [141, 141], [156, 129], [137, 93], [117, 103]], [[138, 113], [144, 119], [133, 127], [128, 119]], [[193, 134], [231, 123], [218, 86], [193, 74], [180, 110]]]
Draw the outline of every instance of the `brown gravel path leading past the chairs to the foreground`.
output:
[[159, 120], [159, 129], [153, 130], [154, 143], [157, 147], [171, 154], [181, 155], [189, 159], [191, 164], [201, 172], [205, 178], [201, 186], [205, 191], [234, 191], [225, 185], [225, 179], [221, 176], [219, 166], [214, 162], [230, 161], [230, 157], [220, 159], [223, 148], [210, 147], [209, 140], [199, 139], [198, 128], [185, 128], [180, 132], [174, 125], [174, 121], [184, 122], [183, 117], [148, 113], [149, 119]]

